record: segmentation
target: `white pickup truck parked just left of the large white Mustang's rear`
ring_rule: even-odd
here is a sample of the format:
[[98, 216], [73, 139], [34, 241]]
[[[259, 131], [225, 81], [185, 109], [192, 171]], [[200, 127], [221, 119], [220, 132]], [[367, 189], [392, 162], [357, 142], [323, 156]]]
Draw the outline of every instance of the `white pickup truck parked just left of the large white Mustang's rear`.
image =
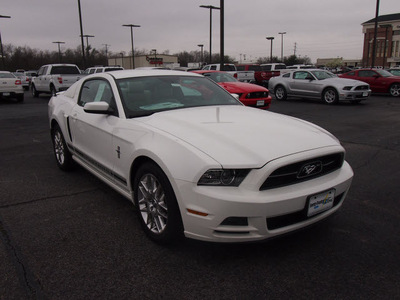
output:
[[52, 64], [40, 67], [38, 76], [32, 78], [31, 91], [33, 97], [38, 97], [39, 93], [55, 95], [65, 91], [73, 83], [81, 79], [81, 74], [77, 65], [73, 64]]

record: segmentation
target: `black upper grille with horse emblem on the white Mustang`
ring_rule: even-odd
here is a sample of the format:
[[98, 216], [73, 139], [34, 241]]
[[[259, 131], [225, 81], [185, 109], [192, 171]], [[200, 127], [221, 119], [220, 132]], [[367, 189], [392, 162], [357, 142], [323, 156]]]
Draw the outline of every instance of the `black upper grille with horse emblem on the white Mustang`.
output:
[[343, 165], [344, 154], [335, 153], [296, 162], [276, 169], [260, 187], [260, 191], [296, 184], [324, 176]]

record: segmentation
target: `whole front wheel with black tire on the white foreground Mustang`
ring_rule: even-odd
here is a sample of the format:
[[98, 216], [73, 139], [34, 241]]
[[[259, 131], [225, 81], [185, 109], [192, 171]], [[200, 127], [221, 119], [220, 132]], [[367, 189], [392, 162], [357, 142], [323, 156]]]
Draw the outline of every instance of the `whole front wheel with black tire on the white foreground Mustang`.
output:
[[146, 235], [162, 244], [180, 239], [182, 218], [165, 173], [156, 164], [146, 162], [135, 175], [133, 189], [140, 225]]

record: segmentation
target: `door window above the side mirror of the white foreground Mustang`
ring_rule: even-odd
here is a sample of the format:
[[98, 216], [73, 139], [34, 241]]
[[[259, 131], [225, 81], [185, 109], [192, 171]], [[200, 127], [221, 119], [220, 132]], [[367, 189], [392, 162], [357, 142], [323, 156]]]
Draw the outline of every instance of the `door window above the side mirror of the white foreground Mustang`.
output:
[[107, 102], [112, 109], [117, 111], [114, 95], [110, 84], [106, 80], [93, 79], [82, 84], [78, 105], [85, 106], [88, 102]]

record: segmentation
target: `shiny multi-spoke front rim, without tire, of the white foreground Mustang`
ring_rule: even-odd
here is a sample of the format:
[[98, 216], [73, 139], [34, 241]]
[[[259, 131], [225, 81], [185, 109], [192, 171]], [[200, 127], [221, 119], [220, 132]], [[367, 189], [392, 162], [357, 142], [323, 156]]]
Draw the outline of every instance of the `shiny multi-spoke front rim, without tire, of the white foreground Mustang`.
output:
[[140, 214], [147, 228], [161, 234], [167, 226], [168, 208], [165, 192], [153, 174], [145, 174], [139, 181], [138, 204]]

